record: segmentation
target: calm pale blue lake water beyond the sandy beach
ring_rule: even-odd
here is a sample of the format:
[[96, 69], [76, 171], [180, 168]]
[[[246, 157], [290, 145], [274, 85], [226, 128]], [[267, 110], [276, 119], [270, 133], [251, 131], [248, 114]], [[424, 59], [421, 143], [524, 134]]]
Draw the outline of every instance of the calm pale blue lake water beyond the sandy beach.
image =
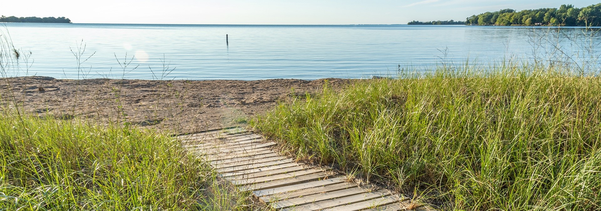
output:
[[[28, 65], [20, 61], [21, 70], [10, 72], [10, 76], [58, 79], [160, 79], [162, 61], [175, 68], [165, 79], [367, 78], [394, 74], [398, 65], [427, 71], [441, 64], [443, 58], [455, 64], [466, 60], [492, 64], [509, 57], [528, 61], [533, 52], [541, 52], [532, 42], [531, 27], [5, 25], [14, 46], [32, 52], [31, 67], [27, 70]], [[548, 28], [534, 30], [557, 33]], [[581, 30], [569, 29], [566, 36]], [[82, 41], [85, 52], [81, 59], [89, 59], [78, 70], [73, 52], [78, 52]], [[544, 42], [548, 41], [538, 41]], [[130, 62], [125, 71], [121, 67], [124, 61]]]

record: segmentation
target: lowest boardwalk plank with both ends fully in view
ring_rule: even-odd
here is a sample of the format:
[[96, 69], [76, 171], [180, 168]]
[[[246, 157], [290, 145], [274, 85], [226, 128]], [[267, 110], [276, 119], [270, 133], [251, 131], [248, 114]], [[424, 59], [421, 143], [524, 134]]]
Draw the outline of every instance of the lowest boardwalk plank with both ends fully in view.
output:
[[305, 197], [297, 197], [290, 198], [288, 200], [275, 201], [269, 205], [275, 209], [284, 209], [288, 207], [299, 206], [301, 204], [329, 200], [332, 198], [348, 197], [350, 195], [362, 194], [369, 191], [370, 189], [367, 188], [355, 187], [349, 189], [342, 189], [340, 191], [322, 192], [320, 194], [307, 195]]

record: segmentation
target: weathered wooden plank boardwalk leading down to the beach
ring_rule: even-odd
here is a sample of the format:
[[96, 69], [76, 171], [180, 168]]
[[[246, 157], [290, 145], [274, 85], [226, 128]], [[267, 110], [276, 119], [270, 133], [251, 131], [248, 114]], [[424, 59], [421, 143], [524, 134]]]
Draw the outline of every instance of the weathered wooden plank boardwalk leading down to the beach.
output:
[[[225, 128], [180, 135], [183, 146], [197, 152], [241, 191], [252, 191], [276, 210], [407, 210], [408, 198], [385, 189], [349, 182], [324, 168], [307, 167], [278, 155], [260, 135]], [[431, 210], [418, 207], [415, 210]]]

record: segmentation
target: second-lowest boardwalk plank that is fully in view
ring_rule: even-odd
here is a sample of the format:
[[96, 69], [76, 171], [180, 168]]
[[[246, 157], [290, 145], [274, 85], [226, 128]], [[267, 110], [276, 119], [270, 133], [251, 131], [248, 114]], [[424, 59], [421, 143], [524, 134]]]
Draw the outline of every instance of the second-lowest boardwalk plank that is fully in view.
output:
[[287, 200], [287, 199], [296, 198], [296, 197], [305, 197], [307, 195], [319, 194], [322, 192], [339, 191], [342, 189], [356, 188], [356, 187], [358, 187], [358, 186], [353, 183], [343, 182], [343, 183], [336, 183], [334, 185], [319, 186], [319, 187], [314, 187], [314, 188], [301, 189], [298, 191], [282, 192], [280, 194], [266, 195], [264, 197], [260, 197], [259, 200], [263, 203], [270, 203], [273, 201]]

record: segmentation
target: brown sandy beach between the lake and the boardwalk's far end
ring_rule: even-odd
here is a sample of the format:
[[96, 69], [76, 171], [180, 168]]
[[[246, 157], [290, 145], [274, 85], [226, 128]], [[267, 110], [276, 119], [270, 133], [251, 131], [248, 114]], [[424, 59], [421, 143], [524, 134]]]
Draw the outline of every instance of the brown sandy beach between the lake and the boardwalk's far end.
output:
[[326, 83], [333, 89], [343, 88], [353, 80], [60, 80], [29, 76], [3, 78], [0, 96], [2, 103], [7, 103], [14, 95], [25, 112], [40, 117], [118, 121], [180, 133], [243, 125], [252, 115], [294, 95], [319, 92]]

